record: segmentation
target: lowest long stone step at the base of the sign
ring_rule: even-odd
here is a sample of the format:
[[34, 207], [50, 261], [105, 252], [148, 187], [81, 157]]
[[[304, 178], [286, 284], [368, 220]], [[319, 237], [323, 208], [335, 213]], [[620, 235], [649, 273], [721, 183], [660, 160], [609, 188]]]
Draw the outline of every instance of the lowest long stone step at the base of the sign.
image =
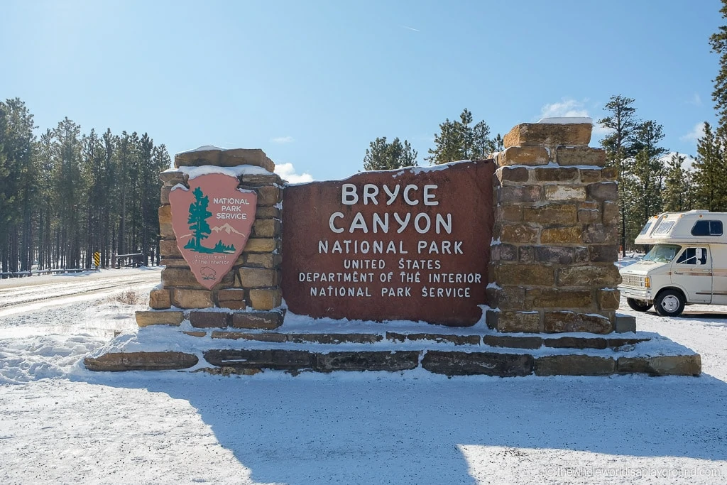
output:
[[[203, 360], [204, 359], [204, 360]], [[256, 374], [265, 370], [300, 372], [388, 371], [421, 367], [434, 374], [523, 377], [643, 373], [653, 376], [697, 376], [697, 354], [614, 356], [582, 353], [464, 352], [460, 350], [345, 350], [320, 352], [289, 348], [209, 349], [202, 358], [182, 352], [116, 352], [84, 360], [89, 370], [189, 369], [212, 374]]]

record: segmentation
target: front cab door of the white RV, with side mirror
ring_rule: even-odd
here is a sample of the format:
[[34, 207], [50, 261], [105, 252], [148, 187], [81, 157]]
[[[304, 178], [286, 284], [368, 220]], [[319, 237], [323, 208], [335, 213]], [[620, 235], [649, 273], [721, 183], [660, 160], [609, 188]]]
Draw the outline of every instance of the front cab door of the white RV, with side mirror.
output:
[[707, 246], [685, 247], [672, 264], [672, 283], [690, 303], [712, 302], [712, 265]]

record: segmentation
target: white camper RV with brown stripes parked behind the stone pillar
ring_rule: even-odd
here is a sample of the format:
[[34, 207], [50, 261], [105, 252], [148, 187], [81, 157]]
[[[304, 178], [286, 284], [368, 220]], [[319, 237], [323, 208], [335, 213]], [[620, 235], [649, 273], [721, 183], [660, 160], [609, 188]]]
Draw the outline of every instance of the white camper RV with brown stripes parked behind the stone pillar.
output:
[[648, 220], [636, 244], [654, 245], [643, 260], [621, 269], [621, 294], [631, 308], [654, 305], [679, 316], [684, 305], [727, 305], [727, 213], [664, 212]]

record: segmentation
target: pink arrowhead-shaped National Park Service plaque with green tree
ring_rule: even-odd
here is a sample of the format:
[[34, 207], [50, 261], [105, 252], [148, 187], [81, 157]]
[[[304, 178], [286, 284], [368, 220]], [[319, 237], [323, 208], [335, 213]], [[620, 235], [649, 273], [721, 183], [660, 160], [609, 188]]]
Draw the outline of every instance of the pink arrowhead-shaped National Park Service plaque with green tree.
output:
[[169, 193], [177, 247], [206, 289], [219, 283], [244, 249], [255, 220], [257, 194], [237, 188], [232, 175], [205, 174]]

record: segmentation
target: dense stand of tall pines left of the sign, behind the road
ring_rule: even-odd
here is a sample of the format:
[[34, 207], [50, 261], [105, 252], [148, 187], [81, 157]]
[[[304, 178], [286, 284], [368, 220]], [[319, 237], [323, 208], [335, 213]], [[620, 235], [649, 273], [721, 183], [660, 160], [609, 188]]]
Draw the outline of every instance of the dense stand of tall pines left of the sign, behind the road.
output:
[[0, 102], [2, 273], [93, 268], [112, 254], [158, 263], [164, 145], [144, 133], [102, 134], [66, 118], [39, 137], [20, 99]]

